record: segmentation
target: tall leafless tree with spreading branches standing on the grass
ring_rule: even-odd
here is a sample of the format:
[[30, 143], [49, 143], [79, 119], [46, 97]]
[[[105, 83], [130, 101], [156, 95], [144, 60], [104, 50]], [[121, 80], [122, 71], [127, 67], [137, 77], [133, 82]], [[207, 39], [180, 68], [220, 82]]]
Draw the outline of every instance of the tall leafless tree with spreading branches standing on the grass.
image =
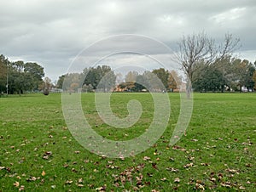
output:
[[206, 66], [212, 65], [231, 55], [240, 39], [233, 38], [231, 34], [226, 34], [224, 43], [217, 44], [214, 39], [207, 37], [205, 32], [183, 36], [178, 42], [178, 52], [175, 54], [175, 61], [181, 65], [183, 72], [187, 76], [187, 96], [190, 98], [191, 82], [195, 81], [195, 71], [201, 69], [198, 64], [204, 62]]

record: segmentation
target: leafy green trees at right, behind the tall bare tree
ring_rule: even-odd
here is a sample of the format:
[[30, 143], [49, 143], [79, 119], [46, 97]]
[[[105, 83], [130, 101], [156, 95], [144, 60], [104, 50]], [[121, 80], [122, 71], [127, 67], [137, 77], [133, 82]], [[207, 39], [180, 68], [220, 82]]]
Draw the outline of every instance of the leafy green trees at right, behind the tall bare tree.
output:
[[256, 90], [256, 61], [247, 59], [225, 57], [207, 65], [198, 62], [192, 85], [195, 91], [224, 92], [224, 91], [250, 91]]

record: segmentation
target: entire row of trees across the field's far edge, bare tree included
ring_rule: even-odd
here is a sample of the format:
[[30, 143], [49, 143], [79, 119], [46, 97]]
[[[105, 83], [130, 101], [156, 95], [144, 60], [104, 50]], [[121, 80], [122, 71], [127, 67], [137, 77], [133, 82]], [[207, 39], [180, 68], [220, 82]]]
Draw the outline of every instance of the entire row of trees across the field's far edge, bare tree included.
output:
[[[188, 98], [192, 88], [199, 92], [256, 90], [256, 61], [233, 57], [240, 40], [226, 34], [223, 42], [216, 42], [204, 32], [183, 36], [177, 43], [179, 50], [173, 60], [180, 65], [185, 76], [164, 68], [129, 71], [125, 77], [115, 74], [108, 65], [85, 68], [81, 73], [59, 77], [53, 85], [44, 77], [44, 68], [35, 62], [11, 62], [0, 55], [0, 93], [26, 93], [51, 87], [69, 92], [109, 91], [173, 91], [184, 88]], [[158, 77], [158, 78], [156, 78]], [[160, 82], [158, 82], [160, 79]], [[65, 80], [65, 81], [64, 81]]]

